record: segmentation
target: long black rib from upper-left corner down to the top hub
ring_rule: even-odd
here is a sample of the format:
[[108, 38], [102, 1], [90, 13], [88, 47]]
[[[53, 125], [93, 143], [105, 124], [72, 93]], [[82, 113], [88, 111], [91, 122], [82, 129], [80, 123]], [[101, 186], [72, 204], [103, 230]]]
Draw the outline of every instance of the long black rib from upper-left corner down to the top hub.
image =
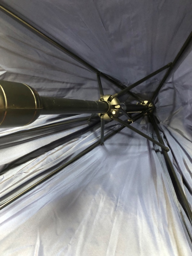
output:
[[[43, 39], [47, 40], [49, 43], [52, 43], [54, 46], [58, 47], [58, 49], [60, 49], [62, 52], [65, 52], [66, 54], [70, 55], [71, 57], [73, 57], [74, 59], [76, 59], [77, 61], [79, 61], [80, 63], [82, 63], [84, 66], [86, 66], [87, 68], [91, 69], [93, 72], [95, 72], [96, 74], [99, 74], [100, 76], [102, 76], [103, 78], [105, 78], [106, 80], [108, 80], [109, 82], [115, 84], [118, 88], [120, 89], [124, 89], [124, 84], [122, 84], [121, 82], [117, 81], [116, 79], [112, 79], [110, 77], [108, 77], [106, 74], [100, 72], [97, 68], [94, 68], [91, 64], [89, 64], [87, 61], [83, 60], [81, 57], [77, 56], [75, 53], [71, 52], [70, 50], [68, 50], [67, 48], [65, 48], [62, 44], [56, 42], [55, 40], [53, 40], [51, 37], [46, 36], [43, 32], [41, 32], [39, 29], [35, 28], [34, 26], [32, 26], [31, 24], [29, 24], [27, 21], [23, 20], [22, 18], [20, 18], [17, 14], [15, 14], [14, 12], [8, 10], [5, 6], [3, 6], [2, 4], [0, 4], [0, 9], [2, 11], [4, 11], [6, 14], [11, 15], [12, 17], [14, 17], [16, 20], [19, 20], [22, 24], [24, 24], [25, 26], [27, 26], [27, 28], [30, 28], [32, 31], [34, 31], [37, 35], [41, 36]], [[137, 97], [136, 95], [134, 95], [132, 92], [127, 92], [128, 94], [130, 94], [132, 97], [134, 97], [135, 99], [139, 100], [140, 102], [143, 102], [139, 97]]]

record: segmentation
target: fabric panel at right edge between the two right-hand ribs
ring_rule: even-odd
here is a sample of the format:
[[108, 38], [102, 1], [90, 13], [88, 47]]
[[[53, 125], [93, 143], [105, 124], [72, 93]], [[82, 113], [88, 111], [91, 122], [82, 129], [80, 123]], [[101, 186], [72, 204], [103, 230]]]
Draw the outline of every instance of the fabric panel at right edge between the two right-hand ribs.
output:
[[192, 90], [191, 90], [192, 44], [180, 58], [174, 71], [168, 77], [158, 99], [157, 117], [166, 139], [172, 148], [173, 162], [180, 183], [192, 205]]

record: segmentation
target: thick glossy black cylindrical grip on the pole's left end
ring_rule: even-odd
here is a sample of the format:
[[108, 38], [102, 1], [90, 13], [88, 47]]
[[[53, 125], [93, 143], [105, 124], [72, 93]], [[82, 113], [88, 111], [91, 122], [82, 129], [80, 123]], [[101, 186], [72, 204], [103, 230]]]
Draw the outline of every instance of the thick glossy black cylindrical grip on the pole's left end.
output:
[[0, 81], [0, 127], [18, 127], [33, 123], [40, 115], [39, 94], [21, 83]]

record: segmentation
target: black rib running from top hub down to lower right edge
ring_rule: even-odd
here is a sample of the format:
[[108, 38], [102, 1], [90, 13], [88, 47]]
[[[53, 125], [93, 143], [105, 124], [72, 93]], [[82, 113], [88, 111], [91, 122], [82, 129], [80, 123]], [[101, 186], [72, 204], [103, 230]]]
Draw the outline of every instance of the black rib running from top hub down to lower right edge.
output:
[[[153, 118], [153, 115], [149, 115], [149, 119], [154, 127], [154, 130], [156, 132], [156, 135], [157, 135], [157, 138], [159, 140], [159, 142], [161, 144], [164, 144], [164, 141], [162, 140], [160, 134], [159, 134], [159, 131], [158, 131], [158, 126]], [[188, 203], [188, 200], [187, 200], [187, 197], [180, 185], [180, 181], [177, 177], [177, 174], [174, 170], [174, 167], [172, 165], [172, 162], [169, 158], [169, 155], [167, 153], [166, 150], [164, 150], [163, 148], [163, 153], [164, 153], [164, 158], [165, 158], [165, 161], [166, 161], [166, 164], [167, 164], [167, 167], [168, 167], [168, 171], [169, 171], [169, 174], [170, 174], [170, 177], [171, 177], [171, 180], [172, 180], [172, 183], [173, 183], [173, 187], [175, 189], [175, 193], [178, 197], [178, 200], [180, 202], [180, 204], [182, 205], [184, 211], [186, 212], [187, 216], [188, 216], [188, 219], [190, 220], [191, 224], [192, 224], [192, 211], [191, 211], [191, 208], [190, 208], [190, 205]]]

